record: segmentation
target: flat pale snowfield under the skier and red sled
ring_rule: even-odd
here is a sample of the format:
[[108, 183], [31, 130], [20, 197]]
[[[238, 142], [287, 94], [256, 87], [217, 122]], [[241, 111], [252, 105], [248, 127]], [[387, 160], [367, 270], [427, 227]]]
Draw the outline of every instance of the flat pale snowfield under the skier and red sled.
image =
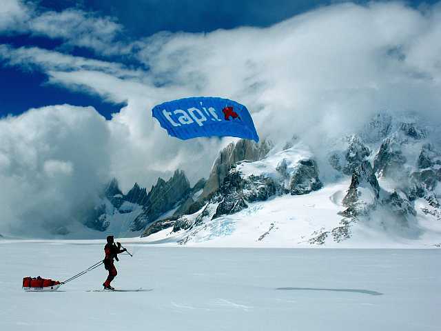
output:
[[[126, 239], [126, 241], [128, 241]], [[440, 250], [161, 247], [126, 243], [119, 289], [93, 270], [103, 241], [0, 240], [0, 330], [440, 330]]]

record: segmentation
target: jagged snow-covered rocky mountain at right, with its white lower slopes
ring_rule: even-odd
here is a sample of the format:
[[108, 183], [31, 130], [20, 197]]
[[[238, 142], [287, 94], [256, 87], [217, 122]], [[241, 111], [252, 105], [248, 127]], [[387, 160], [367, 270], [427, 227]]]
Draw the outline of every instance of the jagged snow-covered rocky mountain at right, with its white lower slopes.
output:
[[239, 141], [220, 152], [198, 199], [147, 225], [145, 241], [204, 245], [441, 243], [437, 126], [378, 114], [317, 154]]

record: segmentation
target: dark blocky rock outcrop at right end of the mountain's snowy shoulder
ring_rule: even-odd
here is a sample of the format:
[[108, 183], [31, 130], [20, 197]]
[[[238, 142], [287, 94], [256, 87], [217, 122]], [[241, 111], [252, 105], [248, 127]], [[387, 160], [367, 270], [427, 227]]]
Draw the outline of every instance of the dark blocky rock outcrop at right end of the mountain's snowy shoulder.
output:
[[308, 194], [320, 190], [323, 184], [318, 179], [318, 168], [314, 160], [301, 160], [298, 168], [291, 177], [291, 195]]

